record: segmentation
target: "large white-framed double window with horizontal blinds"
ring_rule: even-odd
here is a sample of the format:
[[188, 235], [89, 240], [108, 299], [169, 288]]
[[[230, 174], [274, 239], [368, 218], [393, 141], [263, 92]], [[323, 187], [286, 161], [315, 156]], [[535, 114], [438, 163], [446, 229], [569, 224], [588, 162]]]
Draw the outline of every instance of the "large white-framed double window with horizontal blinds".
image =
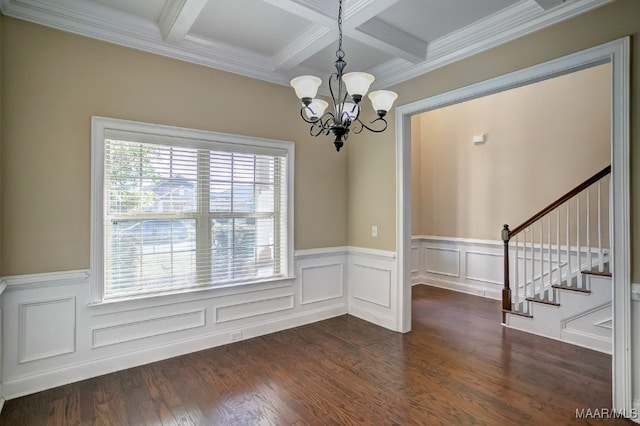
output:
[[293, 144], [93, 118], [94, 301], [287, 278]]

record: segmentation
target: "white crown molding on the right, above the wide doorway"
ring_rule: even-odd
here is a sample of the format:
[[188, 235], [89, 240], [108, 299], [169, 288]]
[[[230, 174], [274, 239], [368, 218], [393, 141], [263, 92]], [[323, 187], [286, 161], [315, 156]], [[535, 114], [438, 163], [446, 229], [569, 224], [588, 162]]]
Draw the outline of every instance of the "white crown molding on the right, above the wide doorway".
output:
[[370, 72], [378, 76], [376, 87], [390, 87], [613, 1], [574, 0], [549, 12], [545, 12], [534, 0], [519, 2], [429, 43], [427, 59], [420, 64], [393, 59], [372, 68]]

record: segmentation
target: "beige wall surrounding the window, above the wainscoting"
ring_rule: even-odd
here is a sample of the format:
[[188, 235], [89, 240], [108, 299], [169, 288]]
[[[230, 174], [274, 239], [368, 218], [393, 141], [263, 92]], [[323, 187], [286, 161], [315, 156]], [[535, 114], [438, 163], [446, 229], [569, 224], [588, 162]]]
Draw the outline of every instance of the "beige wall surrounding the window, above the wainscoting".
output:
[[346, 155], [308, 135], [290, 88], [2, 24], [2, 275], [89, 267], [92, 115], [296, 142], [295, 247], [346, 244]]

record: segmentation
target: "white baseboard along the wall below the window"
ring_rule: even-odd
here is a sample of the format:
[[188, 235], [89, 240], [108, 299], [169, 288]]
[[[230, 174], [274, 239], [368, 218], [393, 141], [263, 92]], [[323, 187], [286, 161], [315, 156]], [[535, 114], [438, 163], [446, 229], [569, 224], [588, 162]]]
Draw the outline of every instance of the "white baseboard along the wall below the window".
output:
[[[347, 306], [341, 303], [314, 311], [281, 317], [270, 322], [260, 322], [242, 328], [243, 340], [322, 321], [346, 313]], [[32, 376], [16, 378], [3, 383], [4, 396], [7, 399], [17, 398], [79, 380], [222, 346], [230, 343], [228, 336], [229, 331], [212, 333], [87, 363], [67, 365]]]

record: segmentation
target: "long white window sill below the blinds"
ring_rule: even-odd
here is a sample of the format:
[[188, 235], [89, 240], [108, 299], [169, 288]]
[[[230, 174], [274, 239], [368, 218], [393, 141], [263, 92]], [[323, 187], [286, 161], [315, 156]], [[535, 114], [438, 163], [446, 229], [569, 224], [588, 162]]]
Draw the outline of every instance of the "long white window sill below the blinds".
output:
[[175, 303], [187, 303], [197, 300], [214, 299], [235, 294], [251, 293], [254, 291], [270, 290], [274, 288], [289, 287], [293, 284], [295, 276], [280, 277], [259, 281], [247, 281], [242, 283], [220, 286], [187, 288], [176, 291], [137, 295], [126, 298], [103, 300], [89, 303], [92, 315], [107, 315], [116, 312], [131, 311], [142, 308], [172, 305]]

